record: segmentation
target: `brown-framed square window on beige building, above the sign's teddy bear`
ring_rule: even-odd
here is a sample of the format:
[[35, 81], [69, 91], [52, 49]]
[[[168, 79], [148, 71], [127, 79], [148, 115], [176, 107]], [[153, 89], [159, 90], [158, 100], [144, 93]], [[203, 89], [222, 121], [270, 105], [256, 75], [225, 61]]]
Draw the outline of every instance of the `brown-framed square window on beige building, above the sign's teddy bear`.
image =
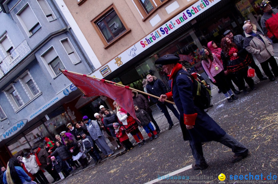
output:
[[130, 31], [113, 4], [93, 19], [91, 23], [105, 48]]

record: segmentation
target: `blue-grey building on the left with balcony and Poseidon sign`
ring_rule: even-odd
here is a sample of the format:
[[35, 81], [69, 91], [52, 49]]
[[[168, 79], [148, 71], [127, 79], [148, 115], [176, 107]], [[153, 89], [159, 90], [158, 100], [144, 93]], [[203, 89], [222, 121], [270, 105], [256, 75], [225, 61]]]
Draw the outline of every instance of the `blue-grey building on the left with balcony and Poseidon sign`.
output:
[[42, 145], [44, 137], [54, 140], [66, 124], [82, 120], [78, 108], [88, 104], [83, 112], [90, 112], [106, 99], [83, 98], [58, 71], [90, 74], [101, 65], [55, 1], [1, 0], [0, 6], [0, 165], [5, 166], [11, 156]]

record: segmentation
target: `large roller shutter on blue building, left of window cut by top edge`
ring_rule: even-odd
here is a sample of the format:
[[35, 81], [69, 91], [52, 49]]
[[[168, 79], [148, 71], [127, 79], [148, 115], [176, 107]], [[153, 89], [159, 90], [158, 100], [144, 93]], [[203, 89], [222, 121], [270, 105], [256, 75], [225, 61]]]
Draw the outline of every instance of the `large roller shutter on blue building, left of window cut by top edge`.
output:
[[30, 6], [27, 6], [20, 14], [24, 25], [26, 26], [27, 30], [30, 31], [37, 23], [38, 19], [36, 18], [35, 14], [33, 13]]

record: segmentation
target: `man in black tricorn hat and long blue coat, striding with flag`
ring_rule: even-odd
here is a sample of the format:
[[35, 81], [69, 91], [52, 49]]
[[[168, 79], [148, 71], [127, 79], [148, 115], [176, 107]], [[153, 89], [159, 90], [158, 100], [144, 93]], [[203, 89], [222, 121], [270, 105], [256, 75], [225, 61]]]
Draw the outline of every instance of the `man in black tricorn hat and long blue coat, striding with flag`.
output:
[[[161, 95], [160, 101], [173, 100], [180, 112], [180, 127], [183, 140], [189, 140], [195, 164], [192, 168], [205, 169], [209, 165], [203, 157], [202, 142], [217, 141], [232, 149], [235, 153], [231, 158], [237, 162], [248, 154], [248, 149], [242, 143], [227, 134], [203, 109], [194, 104], [193, 81], [187, 71], [178, 63], [179, 58], [173, 54], [158, 58], [155, 64], [163, 65], [163, 71], [170, 74], [172, 92]], [[193, 79], [194, 80], [194, 79]]]

